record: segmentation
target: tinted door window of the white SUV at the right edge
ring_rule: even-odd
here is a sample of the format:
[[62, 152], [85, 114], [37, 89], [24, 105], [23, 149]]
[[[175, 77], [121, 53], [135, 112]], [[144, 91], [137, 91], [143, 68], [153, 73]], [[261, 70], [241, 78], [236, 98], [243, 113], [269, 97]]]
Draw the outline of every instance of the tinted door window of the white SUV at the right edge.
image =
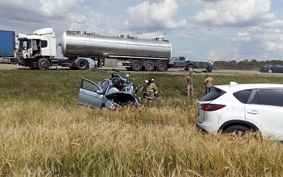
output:
[[283, 106], [282, 89], [260, 89], [258, 92], [261, 105]]

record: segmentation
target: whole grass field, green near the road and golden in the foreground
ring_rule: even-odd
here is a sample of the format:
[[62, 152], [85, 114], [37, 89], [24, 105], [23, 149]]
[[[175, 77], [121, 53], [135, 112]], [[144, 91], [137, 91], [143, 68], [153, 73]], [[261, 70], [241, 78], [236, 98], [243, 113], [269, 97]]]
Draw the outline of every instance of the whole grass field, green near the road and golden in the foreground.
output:
[[[131, 81], [144, 84], [149, 76], [162, 103], [111, 111], [76, 105], [82, 77], [99, 81], [110, 72], [0, 70], [0, 176], [282, 175], [281, 143], [196, 130], [204, 75], [194, 75], [190, 101], [186, 75], [131, 73]], [[283, 77], [258, 75], [213, 79], [283, 83]]]

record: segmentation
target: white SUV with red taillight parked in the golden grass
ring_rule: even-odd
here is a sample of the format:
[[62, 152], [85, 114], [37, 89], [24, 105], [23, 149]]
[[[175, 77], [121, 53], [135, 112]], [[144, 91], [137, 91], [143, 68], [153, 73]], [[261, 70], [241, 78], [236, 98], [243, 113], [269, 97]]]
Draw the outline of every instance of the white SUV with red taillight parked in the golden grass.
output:
[[198, 112], [197, 127], [213, 135], [253, 129], [283, 141], [283, 84], [215, 85], [199, 100]]

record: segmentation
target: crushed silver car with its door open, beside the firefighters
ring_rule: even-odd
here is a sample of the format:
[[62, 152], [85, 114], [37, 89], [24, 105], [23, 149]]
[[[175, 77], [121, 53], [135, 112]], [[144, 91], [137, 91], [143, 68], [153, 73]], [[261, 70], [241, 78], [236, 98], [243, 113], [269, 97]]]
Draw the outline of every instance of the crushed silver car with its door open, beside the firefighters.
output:
[[132, 83], [127, 85], [125, 79], [113, 73], [110, 79], [104, 79], [98, 83], [82, 78], [78, 104], [109, 109], [131, 105], [139, 107], [136, 92], [137, 87], [134, 89]]

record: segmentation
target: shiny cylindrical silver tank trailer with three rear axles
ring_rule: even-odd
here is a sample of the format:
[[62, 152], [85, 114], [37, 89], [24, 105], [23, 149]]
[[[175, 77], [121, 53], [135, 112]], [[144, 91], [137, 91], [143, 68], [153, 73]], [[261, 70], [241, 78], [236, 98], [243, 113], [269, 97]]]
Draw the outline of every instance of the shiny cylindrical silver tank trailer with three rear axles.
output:
[[104, 36], [67, 31], [63, 33], [61, 49], [68, 58], [91, 58], [104, 66], [117, 67], [120, 62], [128, 70], [164, 71], [168, 67], [172, 47], [164, 38], [150, 40], [129, 35]]

